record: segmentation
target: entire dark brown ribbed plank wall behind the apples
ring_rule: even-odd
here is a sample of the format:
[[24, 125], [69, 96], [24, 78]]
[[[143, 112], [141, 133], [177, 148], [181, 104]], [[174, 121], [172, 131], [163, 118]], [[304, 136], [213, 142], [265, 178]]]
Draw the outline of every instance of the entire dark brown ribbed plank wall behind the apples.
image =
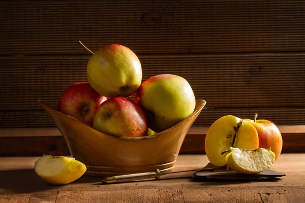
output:
[[37, 99], [56, 107], [86, 81], [89, 53], [117, 43], [143, 80], [186, 78], [207, 101], [195, 126], [221, 116], [305, 124], [304, 1], [2, 1], [0, 127], [53, 127]]

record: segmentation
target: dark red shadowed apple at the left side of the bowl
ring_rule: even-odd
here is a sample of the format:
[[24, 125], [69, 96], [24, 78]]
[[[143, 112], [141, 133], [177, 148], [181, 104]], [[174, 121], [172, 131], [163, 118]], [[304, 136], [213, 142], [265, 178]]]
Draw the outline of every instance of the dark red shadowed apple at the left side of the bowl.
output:
[[60, 95], [57, 110], [92, 126], [96, 110], [106, 99], [88, 82], [78, 82], [70, 85]]

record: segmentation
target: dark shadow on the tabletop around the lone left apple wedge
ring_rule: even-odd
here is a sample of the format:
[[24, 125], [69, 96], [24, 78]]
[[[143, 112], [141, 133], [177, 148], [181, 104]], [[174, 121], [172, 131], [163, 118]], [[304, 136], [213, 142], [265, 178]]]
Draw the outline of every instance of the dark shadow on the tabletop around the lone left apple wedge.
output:
[[[13, 193], [31, 193], [46, 190], [63, 190], [84, 183], [98, 183], [101, 178], [82, 176], [67, 185], [51, 185], [44, 182], [34, 169], [0, 171], [0, 188]], [[78, 187], [78, 186], [76, 186]]]

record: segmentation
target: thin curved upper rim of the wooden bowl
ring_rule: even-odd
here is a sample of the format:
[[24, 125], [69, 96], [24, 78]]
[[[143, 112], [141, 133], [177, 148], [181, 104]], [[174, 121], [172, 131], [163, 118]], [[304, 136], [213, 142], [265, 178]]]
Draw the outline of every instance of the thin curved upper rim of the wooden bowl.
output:
[[[43, 108], [44, 110], [45, 110], [44, 106], [46, 106], [46, 107], [48, 107], [48, 108], [50, 108], [50, 109], [56, 111], [57, 113], [62, 114], [62, 115], [64, 115], [64, 116], [67, 116], [67, 117], [69, 117], [70, 119], [72, 119], [72, 120], [74, 120], [74, 121], [76, 121], [76, 122], [78, 122], [78, 123], [80, 123], [80, 124], [82, 124], [82, 125], [86, 125], [87, 127], [91, 128], [91, 129], [93, 129], [93, 130], [95, 130], [95, 131], [98, 131], [98, 132], [103, 133], [103, 134], [105, 134], [105, 135], [107, 135], [107, 136], [110, 136], [110, 137], [113, 137], [113, 138], [117, 138], [117, 139], [121, 139], [121, 140], [145, 140], [145, 139], [152, 139], [152, 138], [160, 137], [160, 136], [162, 136], [163, 134], [172, 131], [172, 130], [173, 130], [174, 128], [176, 128], [177, 126], [183, 125], [183, 124], [186, 123], [188, 120], [192, 119], [196, 114], [199, 114], [199, 113], [202, 111], [202, 109], [204, 108], [204, 106], [206, 105], [206, 101], [205, 101], [204, 99], [196, 99], [196, 101], [202, 101], [202, 104], [200, 104], [200, 106], [198, 107], [198, 109], [194, 109], [194, 112], [193, 112], [190, 116], [188, 116], [188, 117], [185, 118], [184, 120], [180, 121], [180, 122], [177, 123], [176, 125], [174, 125], [174, 126], [168, 128], [168, 129], [166, 129], [166, 130], [163, 130], [163, 131], [161, 131], [161, 132], [155, 132], [155, 134], [152, 134], [152, 135], [150, 135], [150, 136], [142, 136], [142, 137], [119, 137], [119, 136], [113, 136], [112, 134], [108, 134], [108, 133], [106, 133], [106, 132], [100, 131], [100, 130], [98, 130], [98, 129], [96, 129], [96, 128], [94, 128], [94, 127], [92, 127], [92, 126], [90, 126], [90, 125], [88, 125], [88, 124], [86, 124], [86, 123], [84, 123], [84, 122], [81, 122], [80, 120], [77, 120], [76, 118], [74, 118], [74, 117], [72, 117], [72, 116], [69, 116], [69, 115], [67, 115], [67, 114], [65, 114], [65, 113], [59, 112], [57, 109], [55, 109], [54, 107], [52, 107], [52, 106], [50, 106], [49, 104], [45, 103], [45, 102], [44, 102], [43, 100], [41, 100], [41, 99], [38, 99], [37, 101], [38, 101], [38, 103], [42, 106], [42, 108]], [[47, 113], [48, 113], [48, 112], [47, 112]], [[49, 114], [49, 113], [48, 113], [48, 114]], [[49, 116], [50, 116], [50, 115], [49, 115]], [[51, 117], [51, 119], [53, 120], [52, 117]], [[53, 122], [54, 122], [54, 120], [53, 120]], [[55, 122], [54, 122], [54, 124], [56, 125]], [[56, 127], [57, 127], [57, 125], [56, 125]], [[58, 127], [57, 127], [57, 128], [58, 128]], [[59, 131], [60, 131], [60, 130], [59, 130]]]

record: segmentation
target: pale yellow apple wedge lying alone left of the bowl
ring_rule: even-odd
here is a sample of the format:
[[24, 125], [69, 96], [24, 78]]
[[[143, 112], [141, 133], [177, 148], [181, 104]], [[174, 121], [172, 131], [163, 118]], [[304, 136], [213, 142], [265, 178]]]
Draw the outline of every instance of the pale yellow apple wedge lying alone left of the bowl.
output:
[[85, 164], [74, 158], [44, 155], [35, 162], [35, 172], [45, 182], [64, 185], [79, 179], [87, 170]]

